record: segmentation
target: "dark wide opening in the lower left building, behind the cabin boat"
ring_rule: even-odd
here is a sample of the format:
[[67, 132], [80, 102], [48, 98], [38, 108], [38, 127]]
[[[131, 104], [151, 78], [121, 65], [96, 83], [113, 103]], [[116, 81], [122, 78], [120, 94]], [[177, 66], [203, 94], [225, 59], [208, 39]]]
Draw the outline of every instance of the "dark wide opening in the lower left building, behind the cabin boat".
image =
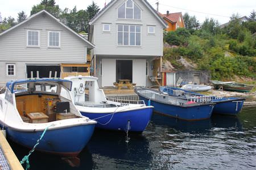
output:
[[36, 71], [39, 71], [39, 78], [49, 78], [50, 71], [52, 71], [51, 77], [54, 77], [55, 71], [57, 71], [57, 78], [60, 77], [60, 66], [27, 66], [27, 78], [31, 78], [31, 71], [34, 78], [36, 78]]

